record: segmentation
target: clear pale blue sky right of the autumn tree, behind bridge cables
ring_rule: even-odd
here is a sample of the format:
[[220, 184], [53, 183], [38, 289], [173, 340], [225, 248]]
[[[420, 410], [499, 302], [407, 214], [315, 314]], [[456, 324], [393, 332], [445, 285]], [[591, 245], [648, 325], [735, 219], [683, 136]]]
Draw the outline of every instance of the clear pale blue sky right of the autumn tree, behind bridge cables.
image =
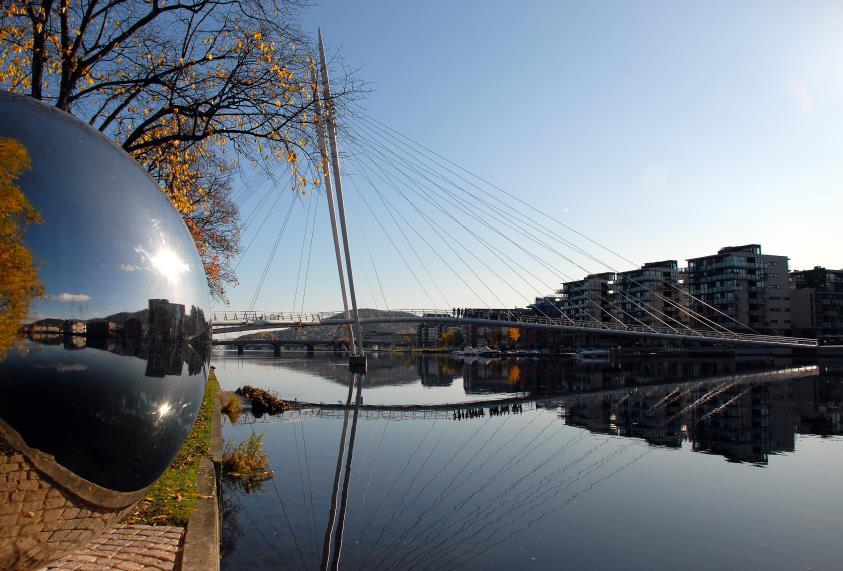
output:
[[[839, 2], [325, 0], [304, 10], [301, 22], [314, 33], [321, 26], [332, 77], [340, 74], [339, 56], [366, 83], [365, 116], [548, 216], [529, 211], [536, 220], [560, 221], [636, 263], [683, 265], [723, 246], [760, 243], [765, 253], [789, 256], [791, 269], [805, 269], [843, 268], [841, 18]], [[367, 193], [378, 199], [358, 164], [366, 152], [353, 139], [359, 121], [343, 121], [360, 306], [523, 306], [563, 279], [605, 271], [593, 260], [551, 260], [539, 244], [533, 258], [506, 250], [508, 236], [531, 241], [518, 224], [488, 234], [523, 262], [513, 271], [466, 237], [437, 243], [410, 202], [405, 215], [430, 246], [408, 231], [417, 252], [406, 241], [393, 247], [398, 231], [385, 222], [387, 207], [369, 211], [364, 202]], [[385, 182], [369, 186], [401, 201]], [[254, 241], [238, 266], [240, 285], [229, 291], [230, 308], [341, 307], [318, 193], [294, 204], [255, 298], [287, 205], [284, 196], [259, 233], [257, 224], [247, 229], [244, 245]], [[312, 248], [308, 205], [316, 209]], [[265, 206], [255, 199], [244, 217], [255, 208], [263, 213]], [[437, 216], [451, 229], [464, 219]], [[610, 257], [559, 231], [600, 252], [601, 261]], [[458, 258], [454, 246], [489, 269]], [[607, 265], [631, 267], [613, 260]], [[513, 280], [520, 280], [516, 287], [504, 285]]]

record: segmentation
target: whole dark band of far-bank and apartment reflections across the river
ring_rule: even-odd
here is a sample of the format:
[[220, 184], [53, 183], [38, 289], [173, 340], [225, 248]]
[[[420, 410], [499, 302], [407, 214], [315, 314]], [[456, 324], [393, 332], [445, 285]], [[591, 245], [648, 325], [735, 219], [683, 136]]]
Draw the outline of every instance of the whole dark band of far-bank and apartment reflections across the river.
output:
[[[688, 444], [697, 452], [761, 465], [770, 454], [793, 451], [795, 433], [843, 434], [843, 367], [838, 361], [803, 370], [803, 361], [763, 352], [592, 364], [378, 355], [370, 359], [364, 383], [370, 389], [460, 383], [467, 400], [507, 395], [537, 399], [541, 406], [558, 405], [567, 424], [593, 433], [639, 438], [661, 447]], [[329, 359], [278, 363], [345, 386], [351, 382], [351, 374]]]

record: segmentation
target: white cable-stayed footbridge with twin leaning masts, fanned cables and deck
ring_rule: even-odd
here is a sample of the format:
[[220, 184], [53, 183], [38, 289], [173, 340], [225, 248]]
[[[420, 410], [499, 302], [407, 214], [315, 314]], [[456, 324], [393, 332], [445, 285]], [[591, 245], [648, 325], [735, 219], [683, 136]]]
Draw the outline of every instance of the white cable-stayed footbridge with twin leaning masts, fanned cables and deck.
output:
[[[215, 333], [348, 325], [352, 359], [363, 355], [360, 328], [367, 323], [518, 327], [571, 335], [644, 337], [717, 345], [817, 346], [815, 339], [762, 334], [775, 329], [763, 325], [755, 325], [753, 329], [745, 317], [738, 319], [739, 298], [743, 302], [748, 298], [750, 304], [755, 304], [750, 307], [750, 314], [763, 314], [758, 305], [764, 300], [763, 292], [758, 291], [763, 289], [763, 270], [756, 273], [758, 270], [747, 265], [730, 269], [733, 274], [729, 275], [744, 281], [736, 282], [737, 286], [712, 281], [695, 291], [690, 291], [679, 277], [675, 261], [672, 273], [653, 278], [642, 264], [551, 214], [552, 208], [527, 203], [518, 194], [461, 167], [367, 115], [354, 104], [347, 109], [348, 120], [338, 123], [324, 58], [320, 72], [322, 92], [320, 95], [318, 87], [314, 88], [314, 111], [319, 118], [315, 125], [321, 161], [310, 168], [313, 178], [323, 182], [310, 193], [306, 214], [303, 213], [300, 248], [298, 244], [281, 248], [295, 251], [299, 258], [291, 304], [294, 311], [257, 311], [255, 307], [267, 281], [271, 283], [267, 278], [292, 212], [297, 204], [303, 206], [304, 201], [300, 195], [290, 193], [286, 213], [283, 206], [276, 212], [283, 193], [269, 185], [260, 197], [258, 189], [268, 179], [256, 179], [235, 197], [244, 212], [244, 206], [253, 205], [244, 217], [246, 245], [240, 261], [256, 241], [272, 247], [248, 308], [214, 313]], [[347, 145], [343, 155], [338, 147], [340, 135]], [[341, 157], [345, 166], [342, 172]], [[343, 309], [305, 312], [322, 197], [327, 201]], [[283, 219], [274, 240], [258, 240], [270, 219]], [[356, 223], [354, 232], [349, 230], [350, 221]], [[370, 239], [368, 233], [372, 232], [377, 232], [377, 236]], [[378, 310], [376, 316], [360, 315], [357, 311], [360, 304], [351, 263], [352, 239], [355, 249], [367, 254], [362, 256], [362, 263], [358, 258], [355, 267], [362, 270], [368, 286], [366, 303]], [[370, 247], [373, 242], [382, 244], [379, 258], [389, 254], [392, 260], [379, 259], [376, 264]], [[390, 279], [401, 273], [402, 266], [406, 273], [401, 281], [396, 283], [393, 279], [390, 284]], [[630, 274], [639, 270], [638, 274]], [[574, 276], [592, 278], [603, 274], [623, 275], [623, 285], [620, 280], [612, 288], [594, 289], [589, 285], [573, 310], [568, 307], [563, 311], [558, 305], [558, 311], [540, 307], [541, 299], [559, 301], [565, 297], [565, 292], [556, 289], [560, 283], [576, 282]], [[426, 298], [427, 302], [422, 303], [429, 303], [428, 307], [433, 308], [465, 305], [452, 301], [454, 291], [459, 290], [460, 299], [470, 296], [476, 300], [472, 301], [475, 307], [511, 307], [508, 302], [518, 299], [531, 309], [479, 309], [468, 313], [448, 309], [396, 310], [387, 299], [396, 288], [402, 293], [412, 289]], [[781, 299], [780, 295], [776, 299]]]

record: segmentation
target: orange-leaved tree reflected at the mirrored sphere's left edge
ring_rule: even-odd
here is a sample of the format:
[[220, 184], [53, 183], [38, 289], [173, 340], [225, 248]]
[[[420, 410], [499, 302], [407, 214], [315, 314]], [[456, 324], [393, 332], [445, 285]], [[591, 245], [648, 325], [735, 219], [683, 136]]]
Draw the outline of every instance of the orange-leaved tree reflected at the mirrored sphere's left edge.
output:
[[26, 226], [41, 222], [41, 216], [15, 185], [29, 168], [26, 148], [0, 137], [0, 357], [15, 342], [32, 298], [44, 294], [23, 240]]

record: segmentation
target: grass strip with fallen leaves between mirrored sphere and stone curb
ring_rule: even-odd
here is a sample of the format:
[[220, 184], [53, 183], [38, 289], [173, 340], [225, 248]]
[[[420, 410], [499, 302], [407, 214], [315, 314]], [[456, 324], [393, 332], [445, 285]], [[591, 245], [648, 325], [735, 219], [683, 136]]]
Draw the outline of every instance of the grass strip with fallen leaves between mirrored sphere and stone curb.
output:
[[211, 456], [211, 420], [220, 387], [213, 370], [208, 375], [202, 408], [193, 430], [173, 463], [123, 519], [146, 525], [187, 525], [200, 493], [199, 462]]

